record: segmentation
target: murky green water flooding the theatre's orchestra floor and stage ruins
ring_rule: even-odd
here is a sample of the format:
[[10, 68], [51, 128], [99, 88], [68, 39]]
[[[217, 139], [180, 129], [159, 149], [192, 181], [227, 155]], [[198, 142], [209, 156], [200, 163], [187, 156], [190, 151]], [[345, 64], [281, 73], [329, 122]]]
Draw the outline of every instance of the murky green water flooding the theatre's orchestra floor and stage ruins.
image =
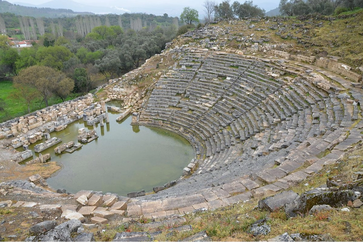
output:
[[[117, 106], [117, 103], [109, 105]], [[182, 175], [183, 168], [194, 157], [194, 150], [186, 139], [160, 128], [131, 126], [131, 116], [116, 122], [118, 116], [109, 112], [110, 123], [104, 127], [96, 125], [98, 139], [71, 154], [56, 155], [54, 148], [72, 140], [77, 143], [78, 129], [93, 129], [93, 126], [87, 126], [80, 119], [63, 131], [52, 132], [50, 136], [61, 138], [62, 142], [41, 153], [50, 153], [51, 161], [61, 162], [63, 169], [47, 179], [48, 184], [72, 193], [85, 189], [126, 196], [128, 192], [142, 189], [151, 191], [152, 187]]]

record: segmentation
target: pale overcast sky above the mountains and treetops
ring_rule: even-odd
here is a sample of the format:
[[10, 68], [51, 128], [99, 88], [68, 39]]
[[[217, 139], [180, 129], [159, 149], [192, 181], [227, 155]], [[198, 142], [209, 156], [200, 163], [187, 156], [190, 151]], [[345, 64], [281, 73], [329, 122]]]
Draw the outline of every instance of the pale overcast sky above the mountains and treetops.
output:
[[[30, 3], [30, 4], [42, 4], [50, 0], [7, 0], [11, 3]], [[59, 0], [62, 1], [62, 0]], [[146, 12], [153, 14], [168, 13], [170, 16], [178, 16], [183, 7], [189, 6], [199, 11], [199, 18], [204, 16], [203, 2], [204, 0], [182, 0], [182, 1], [170, 1], [170, 0], [73, 0], [78, 3], [93, 5], [93, 6], [112, 6], [114, 8], [123, 8], [130, 10], [131, 12]], [[220, 3], [222, 0], [217, 0]], [[234, 0], [231, 0], [233, 3]], [[240, 0], [243, 3], [245, 0]], [[260, 8], [264, 8], [267, 11], [277, 8], [280, 0], [254, 0], [253, 3], [257, 4]], [[64, 6], [66, 7], [66, 6]]]

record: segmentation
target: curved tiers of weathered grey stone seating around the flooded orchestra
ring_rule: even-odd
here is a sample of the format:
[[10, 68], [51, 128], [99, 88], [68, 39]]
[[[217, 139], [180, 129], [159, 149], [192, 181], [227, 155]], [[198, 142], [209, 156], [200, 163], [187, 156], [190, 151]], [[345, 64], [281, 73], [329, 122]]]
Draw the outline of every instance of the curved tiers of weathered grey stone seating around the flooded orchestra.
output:
[[[149, 125], [163, 120], [163, 127], [193, 137], [200, 162], [189, 182], [163, 190], [156, 197], [211, 186], [223, 190], [223, 184], [235, 184], [233, 179], [242, 176], [276, 182], [306, 162], [313, 164], [322, 153], [329, 153], [327, 150], [331, 153], [324, 159], [336, 158], [361, 137], [357, 131], [354, 138], [340, 145], [347, 131], [344, 127], [352, 125], [358, 107], [338, 97], [335, 90], [342, 90], [333, 83], [330, 90], [319, 89], [309, 81], [304, 68], [290, 70], [285, 65], [283, 69], [257, 58], [197, 50], [178, 58], [178, 65], [159, 79], [139, 120]], [[176, 68], [181, 65], [188, 67]], [[301, 71], [301, 75], [272, 79], [266, 74], [287, 70], [294, 74]], [[355, 96], [363, 101], [359, 92]], [[231, 187], [225, 186], [233, 191]]]

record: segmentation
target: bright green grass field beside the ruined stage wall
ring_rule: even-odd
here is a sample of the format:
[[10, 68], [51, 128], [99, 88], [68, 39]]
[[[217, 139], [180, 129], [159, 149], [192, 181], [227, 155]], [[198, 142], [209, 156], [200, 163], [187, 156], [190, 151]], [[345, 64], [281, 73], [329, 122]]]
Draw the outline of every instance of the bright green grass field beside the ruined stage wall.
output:
[[[4, 122], [8, 119], [19, 117], [28, 113], [28, 108], [23, 100], [12, 97], [12, 94], [16, 91], [11, 81], [0, 81], [0, 106], [5, 108], [5, 112], [0, 112], [0, 122]], [[77, 94], [70, 94], [67, 100], [76, 98]], [[62, 102], [62, 99], [58, 97], [52, 97], [48, 100], [49, 105]], [[45, 103], [42, 102], [42, 98], [37, 99], [30, 106], [30, 111], [36, 111], [44, 108]]]

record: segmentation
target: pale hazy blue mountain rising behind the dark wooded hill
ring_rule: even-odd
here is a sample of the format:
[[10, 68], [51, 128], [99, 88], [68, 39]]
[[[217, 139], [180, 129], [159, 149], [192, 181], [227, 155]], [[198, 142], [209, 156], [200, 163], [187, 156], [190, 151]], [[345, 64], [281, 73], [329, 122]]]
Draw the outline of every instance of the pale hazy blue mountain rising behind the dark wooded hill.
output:
[[127, 9], [123, 9], [122, 7], [119, 8], [119, 7], [107, 7], [107, 6], [92, 6], [92, 5], [77, 3], [72, 0], [52, 0], [39, 5], [21, 3], [21, 2], [16, 2], [14, 4], [19, 4], [28, 7], [38, 7], [38, 8], [54, 8], [54, 9], [67, 8], [67, 9], [72, 9], [75, 12], [92, 12], [95, 14], [104, 14], [104, 13], [122, 14], [130, 12], [127, 11]]

